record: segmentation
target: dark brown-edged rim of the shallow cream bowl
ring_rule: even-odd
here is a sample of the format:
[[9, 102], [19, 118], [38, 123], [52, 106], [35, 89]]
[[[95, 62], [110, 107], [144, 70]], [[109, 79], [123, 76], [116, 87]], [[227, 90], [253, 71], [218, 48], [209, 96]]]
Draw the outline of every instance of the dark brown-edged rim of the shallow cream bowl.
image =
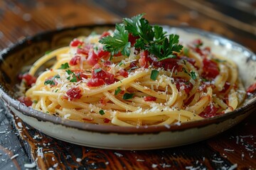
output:
[[[196, 33], [206, 38], [210, 38], [210, 39], [217, 38], [218, 40], [230, 42], [232, 45], [235, 45], [236, 47], [240, 47], [242, 48], [242, 50], [249, 52], [250, 57], [248, 57], [248, 59], [256, 58], [255, 53], [252, 52], [252, 50], [248, 49], [247, 47], [244, 47], [243, 45], [240, 45], [238, 42], [225, 38], [223, 35], [210, 33], [206, 30], [201, 30], [199, 28], [193, 28], [188, 26], [170, 26], [170, 25], [161, 25], [161, 26], [174, 28], [174, 29], [181, 29], [181, 30], [185, 30], [188, 33]], [[45, 39], [47, 40], [49, 36], [53, 37], [53, 34], [55, 33], [61, 33], [68, 30], [77, 30], [81, 28], [93, 29], [93, 28], [99, 28], [99, 27], [114, 28], [114, 24], [107, 23], [107, 24], [80, 25], [80, 26], [58, 28], [56, 30], [47, 30], [42, 33], [37, 33], [36, 35], [33, 35], [33, 36], [28, 36], [23, 40], [16, 42], [14, 45], [11, 45], [10, 47], [6, 47], [4, 50], [0, 52], [0, 56], [2, 59], [4, 59], [4, 57], [7, 57], [8, 55], [10, 55], [11, 52], [16, 52], [16, 50], [22, 49], [24, 46], [31, 44], [31, 42], [40, 42], [41, 40], [45, 40]], [[234, 119], [238, 115], [245, 114], [246, 111], [252, 112], [253, 106], [256, 104], [256, 98], [254, 97], [252, 102], [247, 103], [245, 106], [237, 108], [235, 109], [235, 111], [232, 111], [230, 113], [218, 115], [213, 118], [195, 120], [188, 123], [182, 123], [182, 125], [174, 124], [174, 125], [122, 127], [122, 126], [116, 126], [116, 125], [95, 125], [91, 123], [81, 123], [75, 120], [58, 118], [58, 117], [55, 117], [54, 115], [48, 115], [41, 111], [36, 111], [32, 108], [28, 108], [27, 106], [24, 106], [23, 103], [19, 103], [13, 96], [9, 96], [6, 89], [4, 89], [4, 87], [1, 86], [1, 84], [0, 84], [0, 97], [4, 100], [5, 103], [21, 111], [22, 114], [31, 116], [41, 121], [50, 121], [51, 123], [54, 123], [54, 124], [61, 124], [61, 125], [65, 125], [68, 128], [77, 128], [79, 130], [87, 130], [91, 132], [102, 132], [102, 133], [115, 132], [119, 134], [144, 134], [144, 133], [148, 134], [148, 133], [159, 133], [164, 131], [172, 131], [172, 132], [183, 131], [190, 128], [203, 128], [213, 123], [218, 124], [223, 120]]]

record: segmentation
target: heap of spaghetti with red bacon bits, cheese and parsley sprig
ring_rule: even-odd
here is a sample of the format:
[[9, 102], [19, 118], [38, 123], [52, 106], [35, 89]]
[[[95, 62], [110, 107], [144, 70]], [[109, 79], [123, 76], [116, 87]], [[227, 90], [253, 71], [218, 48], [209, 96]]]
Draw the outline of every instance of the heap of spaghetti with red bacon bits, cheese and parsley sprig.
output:
[[143, 15], [47, 52], [21, 75], [19, 101], [61, 118], [119, 126], [201, 120], [242, 103], [245, 89], [234, 62], [200, 39], [178, 42]]

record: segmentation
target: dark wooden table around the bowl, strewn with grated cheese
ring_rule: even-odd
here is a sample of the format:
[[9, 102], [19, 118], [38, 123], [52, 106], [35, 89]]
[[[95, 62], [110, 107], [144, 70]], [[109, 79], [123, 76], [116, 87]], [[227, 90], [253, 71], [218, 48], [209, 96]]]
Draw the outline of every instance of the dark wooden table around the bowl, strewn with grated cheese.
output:
[[[65, 26], [116, 23], [146, 13], [151, 23], [218, 33], [256, 52], [256, 1], [2, 0], [0, 49]], [[121, 151], [81, 147], [38, 132], [0, 104], [0, 169], [256, 169], [256, 115], [183, 147]]]

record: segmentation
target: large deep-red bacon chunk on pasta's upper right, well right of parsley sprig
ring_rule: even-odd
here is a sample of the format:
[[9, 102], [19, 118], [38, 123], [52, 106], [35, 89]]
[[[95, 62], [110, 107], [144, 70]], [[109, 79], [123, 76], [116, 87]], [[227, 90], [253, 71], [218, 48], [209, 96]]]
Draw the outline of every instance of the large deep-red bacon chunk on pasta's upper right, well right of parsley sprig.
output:
[[206, 58], [203, 59], [203, 74], [206, 79], [215, 79], [220, 74], [218, 64]]

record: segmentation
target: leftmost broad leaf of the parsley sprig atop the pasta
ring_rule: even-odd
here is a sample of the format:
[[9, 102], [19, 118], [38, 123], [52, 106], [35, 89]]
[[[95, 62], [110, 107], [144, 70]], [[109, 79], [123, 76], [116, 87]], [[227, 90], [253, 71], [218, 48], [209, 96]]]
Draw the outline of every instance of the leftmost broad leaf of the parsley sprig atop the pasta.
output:
[[111, 52], [111, 55], [116, 55], [121, 51], [122, 55], [129, 56], [131, 42], [128, 41], [128, 34], [128, 31], [124, 29], [124, 24], [116, 24], [113, 37], [107, 35], [99, 42], [105, 45], [103, 49]]

